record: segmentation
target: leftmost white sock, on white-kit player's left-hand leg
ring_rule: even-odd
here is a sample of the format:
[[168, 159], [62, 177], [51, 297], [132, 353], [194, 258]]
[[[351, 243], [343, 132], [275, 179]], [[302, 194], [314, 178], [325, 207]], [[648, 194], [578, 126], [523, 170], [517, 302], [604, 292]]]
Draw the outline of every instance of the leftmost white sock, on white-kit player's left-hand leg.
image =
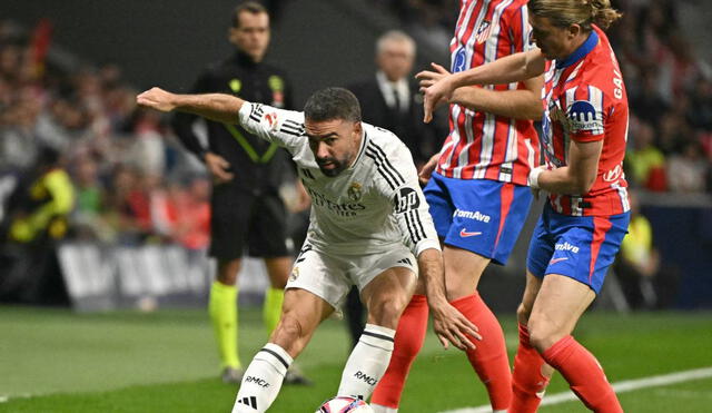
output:
[[277, 399], [291, 357], [277, 344], [267, 343], [249, 363], [233, 413], [265, 412]]

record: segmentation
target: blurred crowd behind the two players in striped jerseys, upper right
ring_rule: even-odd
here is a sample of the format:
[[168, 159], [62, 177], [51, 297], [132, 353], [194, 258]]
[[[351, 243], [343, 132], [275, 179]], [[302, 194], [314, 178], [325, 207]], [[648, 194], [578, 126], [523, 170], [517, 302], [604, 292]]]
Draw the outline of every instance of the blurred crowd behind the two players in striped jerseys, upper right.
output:
[[[712, 69], [698, 59], [681, 30], [679, 2], [611, 3], [623, 12], [607, 35], [632, 111], [629, 183], [652, 191], [711, 193]], [[458, 0], [387, 2], [418, 40], [443, 49], [452, 38], [458, 6]]]

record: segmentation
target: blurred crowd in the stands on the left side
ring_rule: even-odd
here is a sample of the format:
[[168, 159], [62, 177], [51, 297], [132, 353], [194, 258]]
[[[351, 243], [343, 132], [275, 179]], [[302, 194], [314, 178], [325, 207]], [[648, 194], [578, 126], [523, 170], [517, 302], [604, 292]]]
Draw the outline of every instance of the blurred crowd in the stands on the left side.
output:
[[51, 31], [0, 23], [0, 235], [205, 248], [202, 167], [161, 117], [136, 107], [118, 66], [55, 65]]

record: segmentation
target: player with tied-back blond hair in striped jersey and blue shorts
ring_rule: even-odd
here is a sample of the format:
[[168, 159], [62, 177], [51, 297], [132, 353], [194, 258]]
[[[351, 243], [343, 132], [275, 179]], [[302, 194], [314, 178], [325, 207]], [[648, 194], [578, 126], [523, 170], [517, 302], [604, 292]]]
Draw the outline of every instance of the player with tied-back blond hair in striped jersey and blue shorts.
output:
[[601, 291], [630, 220], [622, 171], [627, 97], [602, 30], [620, 13], [609, 0], [531, 0], [528, 7], [538, 48], [439, 79], [425, 92], [425, 111], [464, 85], [545, 73], [546, 165], [533, 169], [528, 181], [550, 196], [530, 245], [517, 311], [511, 412], [536, 411], [537, 393], [551, 375], [546, 364], [562, 373], [589, 409], [623, 412], [596, 358], [571, 335]]

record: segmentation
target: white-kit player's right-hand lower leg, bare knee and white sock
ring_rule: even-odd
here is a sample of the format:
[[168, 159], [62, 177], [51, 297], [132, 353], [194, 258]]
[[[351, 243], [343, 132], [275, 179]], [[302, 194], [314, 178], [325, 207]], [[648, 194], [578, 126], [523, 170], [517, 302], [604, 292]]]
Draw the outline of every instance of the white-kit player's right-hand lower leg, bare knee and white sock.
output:
[[416, 278], [404, 267], [386, 269], [362, 291], [368, 322], [352, 351], [338, 389], [338, 395], [367, 400], [383, 377], [393, 353], [398, 318], [411, 302]]

